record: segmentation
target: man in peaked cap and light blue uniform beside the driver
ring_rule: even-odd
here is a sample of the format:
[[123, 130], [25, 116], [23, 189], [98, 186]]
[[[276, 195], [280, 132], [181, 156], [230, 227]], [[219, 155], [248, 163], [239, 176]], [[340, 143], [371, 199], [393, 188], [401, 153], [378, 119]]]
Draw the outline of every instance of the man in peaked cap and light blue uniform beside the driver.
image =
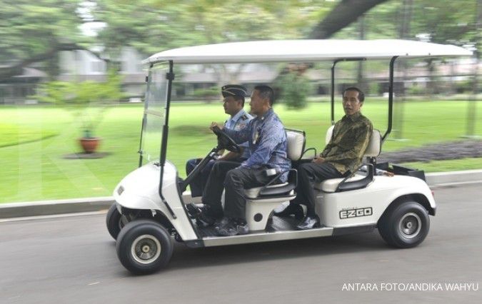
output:
[[[244, 86], [239, 86], [237, 84], [228, 84], [221, 88], [221, 94], [223, 95], [223, 107], [224, 112], [231, 116], [225, 123], [225, 130], [235, 130], [240, 131], [248, 126], [249, 121], [253, 119], [253, 116], [249, 115], [244, 111], [244, 98], [247, 96], [248, 91]], [[236, 161], [241, 163], [249, 157], [248, 143], [242, 143], [241, 148], [243, 152], [241, 154], [229, 152], [224, 156], [221, 156], [219, 160], [222, 161]], [[197, 164], [201, 161], [201, 158], [193, 158], [186, 163], [186, 175], [189, 175], [191, 171], [196, 168]], [[199, 175], [194, 178], [189, 184], [191, 186], [191, 196], [194, 198], [196, 196], [202, 196], [204, 187], [206, 186], [206, 181], [209, 178], [209, 173], [211, 168], [213, 168], [215, 161], [209, 161], [206, 167], [203, 168]]]

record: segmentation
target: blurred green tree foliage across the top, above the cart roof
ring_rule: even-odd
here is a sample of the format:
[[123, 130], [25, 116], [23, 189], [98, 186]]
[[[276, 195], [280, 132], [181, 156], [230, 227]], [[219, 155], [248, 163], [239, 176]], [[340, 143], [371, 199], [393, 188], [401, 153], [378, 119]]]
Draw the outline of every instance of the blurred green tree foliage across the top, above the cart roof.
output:
[[[0, 9], [0, 81], [44, 62], [58, 74], [63, 50], [104, 46], [114, 58], [123, 46], [144, 55], [196, 44], [258, 39], [355, 39], [366, 16], [366, 39], [397, 37], [398, 0], [3, 0]], [[474, 43], [477, 0], [413, 1], [408, 39]], [[83, 9], [84, 8], [84, 9]], [[98, 36], [81, 33], [87, 21], [105, 24]]]

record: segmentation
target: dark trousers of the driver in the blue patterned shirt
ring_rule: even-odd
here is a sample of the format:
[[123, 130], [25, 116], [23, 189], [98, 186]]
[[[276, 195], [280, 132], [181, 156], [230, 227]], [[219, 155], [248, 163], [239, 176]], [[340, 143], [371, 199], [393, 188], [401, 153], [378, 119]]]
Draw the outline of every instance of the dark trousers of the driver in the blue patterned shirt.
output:
[[223, 215], [221, 196], [224, 193], [224, 216], [246, 219], [245, 188], [264, 186], [272, 177], [266, 176], [266, 168], [243, 168], [234, 161], [216, 161], [204, 188], [202, 202], [209, 205], [216, 216]]

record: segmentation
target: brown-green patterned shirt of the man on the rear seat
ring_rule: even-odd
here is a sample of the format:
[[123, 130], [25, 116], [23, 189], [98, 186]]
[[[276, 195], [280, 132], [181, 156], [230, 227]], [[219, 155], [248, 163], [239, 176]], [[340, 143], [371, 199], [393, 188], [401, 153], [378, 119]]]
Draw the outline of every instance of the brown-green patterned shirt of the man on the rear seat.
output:
[[360, 112], [343, 116], [335, 123], [333, 135], [321, 157], [342, 174], [354, 172], [361, 164], [372, 131], [371, 122]]

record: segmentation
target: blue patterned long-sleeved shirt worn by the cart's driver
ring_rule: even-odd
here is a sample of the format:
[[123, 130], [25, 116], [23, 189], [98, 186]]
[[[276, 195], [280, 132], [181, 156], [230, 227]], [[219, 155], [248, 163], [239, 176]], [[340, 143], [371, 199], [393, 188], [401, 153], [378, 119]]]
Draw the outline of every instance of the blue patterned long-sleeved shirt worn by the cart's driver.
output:
[[[253, 118], [247, 128], [240, 131], [226, 130], [234, 141], [249, 141], [251, 155], [241, 163], [244, 168], [275, 168], [278, 173], [288, 171], [291, 161], [287, 156], [286, 132], [283, 123], [270, 108], [261, 117]], [[288, 173], [281, 176], [286, 181]]]

